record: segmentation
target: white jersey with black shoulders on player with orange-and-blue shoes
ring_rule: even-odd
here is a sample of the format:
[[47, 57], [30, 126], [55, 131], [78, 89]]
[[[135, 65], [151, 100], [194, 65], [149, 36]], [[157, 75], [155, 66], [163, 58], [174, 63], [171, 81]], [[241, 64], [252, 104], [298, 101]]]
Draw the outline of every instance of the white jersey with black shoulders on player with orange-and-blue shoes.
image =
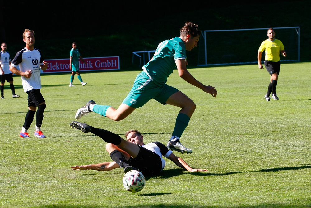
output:
[[34, 48], [30, 51], [26, 48], [16, 53], [12, 60], [11, 66], [19, 67], [21, 72], [31, 70], [31, 77], [26, 78], [21, 76], [24, 91], [32, 89], [41, 89], [40, 65], [43, 65], [43, 56], [39, 49]]

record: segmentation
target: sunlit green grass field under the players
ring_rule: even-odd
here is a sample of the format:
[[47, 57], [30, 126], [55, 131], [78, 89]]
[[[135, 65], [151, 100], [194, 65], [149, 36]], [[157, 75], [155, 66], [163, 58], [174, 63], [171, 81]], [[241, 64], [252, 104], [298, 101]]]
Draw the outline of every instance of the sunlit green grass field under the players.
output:
[[[125, 191], [123, 170], [73, 171], [70, 167], [110, 161], [105, 142], [69, 127], [76, 110], [90, 99], [117, 108], [139, 71], [81, 73], [86, 86], [69, 88], [70, 74], [43, 75], [47, 107], [42, 131], [21, 138], [27, 94], [14, 77], [13, 99], [6, 83], [0, 108], [0, 207], [310, 207], [311, 63], [281, 64], [279, 101], [265, 101], [269, 75], [257, 65], [190, 69], [218, 95], [187, 84], [175, 71], [168, 84], [187, 94], [197, 109], [181, 142], [193, 153], [182, 157], [190, 173], [166, 160], [164, 171], [149, 177], [138, 193]], [[306, 73], [307, 72], [307, 73]], [[168, 141], [179, 109], [154, 100], [120, 122], [91, 113], [81, 119], [122, 135], [135, 128], [145, 143]]]

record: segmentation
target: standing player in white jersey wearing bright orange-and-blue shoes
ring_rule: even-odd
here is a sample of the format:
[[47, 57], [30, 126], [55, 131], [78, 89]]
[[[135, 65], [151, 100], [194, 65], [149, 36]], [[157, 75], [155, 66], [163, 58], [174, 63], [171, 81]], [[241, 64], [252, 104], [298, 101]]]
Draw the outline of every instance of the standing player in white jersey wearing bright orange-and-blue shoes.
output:
[[[26, 47], [16, 53], [12, 60], [10, 71], [21, 76], [24, 91], [28, 94], [28, 112], [25, 117], [25, 123], [20, 132], [20, 137], [29, 138], [29, 129], [36, 113], [36, 127], [34, 135], [38, 138], [45, 138], [41, 131], [43, 112], [46, 107], [45, 100], [40, 92], [41, 77], [40, 68], [44, 71], [48, 63], [44, 61], [41, 51], [34, 48], [35, 32], [26, 29], [23, 33], [23, 41]], [[19, 67], [19, 70], [16, 67]]]

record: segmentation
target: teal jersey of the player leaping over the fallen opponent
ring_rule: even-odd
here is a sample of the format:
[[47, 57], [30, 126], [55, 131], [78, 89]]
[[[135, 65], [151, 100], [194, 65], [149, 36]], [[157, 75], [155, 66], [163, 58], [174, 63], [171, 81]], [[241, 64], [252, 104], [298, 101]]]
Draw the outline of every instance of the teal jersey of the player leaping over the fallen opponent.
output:
[[161, 42], [152, 59], [142, 68], [155, 84], [163, 85], [176, 68], [175, 60], [179, 59], [187, 59], [186, 47], [180, 37], [175, 37]]

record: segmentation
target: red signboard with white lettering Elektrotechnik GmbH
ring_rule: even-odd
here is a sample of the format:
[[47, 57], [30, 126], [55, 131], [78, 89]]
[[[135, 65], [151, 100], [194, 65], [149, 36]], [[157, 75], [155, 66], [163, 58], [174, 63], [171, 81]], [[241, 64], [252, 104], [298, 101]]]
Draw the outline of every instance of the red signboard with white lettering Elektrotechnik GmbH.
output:
[[[96, 71], [96, 70], [119, 70], [120, 60], [119, 56], [111, 57], [94, 57], [83, 58], [83, 61], [79, 61], [80, 71]], [[71, 72], [69, 69], [69, 59], [50, 59], [45, 60], [48, 62], [48, 68], [41, 73], [58, 73], [58, 72]]]

